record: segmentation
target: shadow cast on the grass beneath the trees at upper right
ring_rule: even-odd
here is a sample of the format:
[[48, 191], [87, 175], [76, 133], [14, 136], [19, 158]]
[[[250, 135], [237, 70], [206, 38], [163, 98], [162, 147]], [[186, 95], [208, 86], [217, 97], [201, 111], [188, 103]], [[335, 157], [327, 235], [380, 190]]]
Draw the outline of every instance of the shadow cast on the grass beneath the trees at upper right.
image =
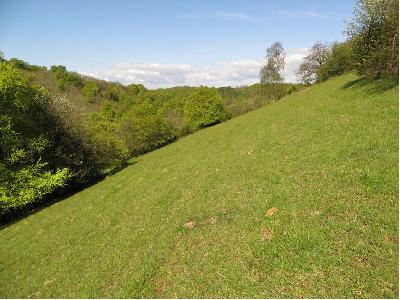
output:
[[382, 79], [366, 79], [358, 78], [342, 86], [343, 89], [349, 88], [362, 88], [365, 87], [365, 91], [371, 94], [381, 94], [399, 85], [399, 81], [396, 78], [382, 78]]

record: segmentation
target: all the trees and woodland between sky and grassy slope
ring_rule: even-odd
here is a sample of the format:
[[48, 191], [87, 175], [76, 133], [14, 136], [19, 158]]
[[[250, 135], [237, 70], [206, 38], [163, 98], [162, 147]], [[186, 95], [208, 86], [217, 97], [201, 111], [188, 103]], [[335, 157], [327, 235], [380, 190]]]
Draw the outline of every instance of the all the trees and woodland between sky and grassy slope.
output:
[[[368, 58], [368, 59], [366, 59]], [[343, 43], [317, 42], [283, 83], [273, 44], [260, 83], [148, 90], [0, 57], [0, 215], [101, 178], [134, 156], [354, 71], [398, 79], [398, 1], [358, 1]]]

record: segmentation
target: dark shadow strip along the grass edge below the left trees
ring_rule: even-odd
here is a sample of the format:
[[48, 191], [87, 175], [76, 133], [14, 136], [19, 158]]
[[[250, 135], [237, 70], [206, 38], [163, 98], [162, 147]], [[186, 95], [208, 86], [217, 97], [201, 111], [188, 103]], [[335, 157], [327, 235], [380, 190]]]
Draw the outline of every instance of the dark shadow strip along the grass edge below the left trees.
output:
[[117, 168], [114, 168], [105, 174], [99, 175], [98, 177], [96, 177], [92, 180], [89, 180], [89, 181], [86, 181], [83, 183], [74, 184], [74, 185], [69, 185], [68, 187], [65, 187], [65, 188], [61, 188], [57, 191], [54, 191], [51, 194], [46, 195], [45, 197], [43, 197], [43, 199], [41, 199], [38, 202], [31, 203], [22, 209], [13, 210], [13, 211], [10, 211], [10, 212], [0, 216], [0, 230], [18, 222], [18, 221], [21, 221], [22, 219], [25, 219], [26, 217], [33, 215], [46, 207], [49, 207], [57, 202], [65, 200], [65, 199], [73, 196], [74, 194], [79, 193], [79, 192], [83, 191], [84, 189], [87, 189], [87, 188], [99, 183], [100, 181], [104, 180], [107, 176], [114, 175], [115, 173], [122, 171], [126, 167], [136, 164], [137, 161], [138, 160], [136, 158], [135, 158], [135, 160], [131, 159], [131, 160], [125, 162], [123, 165], [121, 165]]

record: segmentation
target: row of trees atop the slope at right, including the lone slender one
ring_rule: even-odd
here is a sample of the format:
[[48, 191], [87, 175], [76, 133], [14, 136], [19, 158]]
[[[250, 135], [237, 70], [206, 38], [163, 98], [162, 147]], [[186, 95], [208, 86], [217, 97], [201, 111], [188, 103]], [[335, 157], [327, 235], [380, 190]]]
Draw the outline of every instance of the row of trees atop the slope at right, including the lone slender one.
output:
[[[296, 72], [298, 81], [310, 85], [349, 71], [368, 79], [398, 79], [398, 9], [398, 0], [358, 0], [346, 41], [316, 42]], [[275, 42], [266, 51], [260, 83], [273, 87], [282, 82], [284, 66], [285, 51]]]

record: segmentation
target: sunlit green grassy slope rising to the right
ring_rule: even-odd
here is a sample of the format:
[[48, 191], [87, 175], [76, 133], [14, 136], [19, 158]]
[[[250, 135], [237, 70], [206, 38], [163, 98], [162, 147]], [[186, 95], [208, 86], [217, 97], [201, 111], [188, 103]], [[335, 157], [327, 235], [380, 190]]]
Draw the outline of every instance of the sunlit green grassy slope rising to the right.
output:
[[0, 297], [397, 297], [398, 87], [354, 79], [197, 132], [3, 229]]

